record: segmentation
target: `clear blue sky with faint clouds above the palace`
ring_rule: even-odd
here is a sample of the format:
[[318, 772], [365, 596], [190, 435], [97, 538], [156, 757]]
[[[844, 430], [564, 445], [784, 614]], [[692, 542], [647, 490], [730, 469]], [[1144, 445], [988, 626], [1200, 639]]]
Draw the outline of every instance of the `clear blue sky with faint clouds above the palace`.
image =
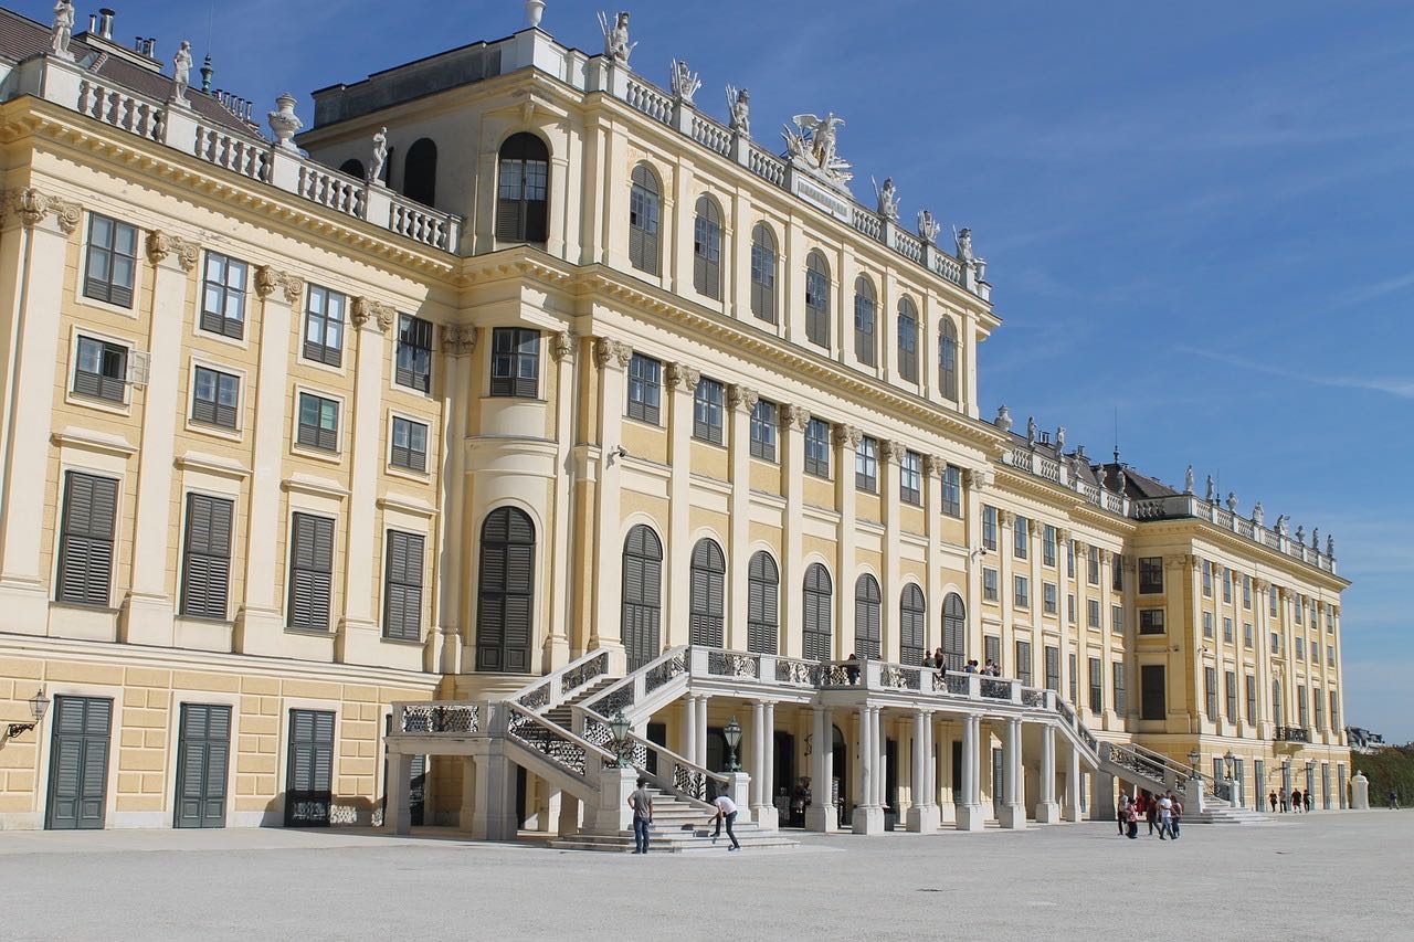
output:
[[[211, 14], [216, 85], [260, 113], [293, 91], [307, 122], [312, 89], [525, 23], [519, 0], [112, 6], [117, 37], [198, 62]], [[597, 51], [601, 6], [549, 0], [543, 28]], [[905, 219], [973, 228], [1005, 320], [990, 409], [1092, 455], [1117, 417], [1137, 468], [1193, 463], [1333, 533], [1345, 719], [1414, 740], [1414, 4], [656, 1], [633, 38], [718, 116], [749, 88], [759, 140], [834, 110], [860, 197], [892, 175]]]

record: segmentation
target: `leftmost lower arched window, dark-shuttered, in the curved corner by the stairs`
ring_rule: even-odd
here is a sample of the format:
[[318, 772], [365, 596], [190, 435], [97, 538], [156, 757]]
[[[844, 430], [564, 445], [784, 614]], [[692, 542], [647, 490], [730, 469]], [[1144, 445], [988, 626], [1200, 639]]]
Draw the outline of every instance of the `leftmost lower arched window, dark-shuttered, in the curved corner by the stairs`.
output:
[[534, 523], [503, 506], [481, 526], [477, 586], [477, 670], [530, 672], [534, 605]]

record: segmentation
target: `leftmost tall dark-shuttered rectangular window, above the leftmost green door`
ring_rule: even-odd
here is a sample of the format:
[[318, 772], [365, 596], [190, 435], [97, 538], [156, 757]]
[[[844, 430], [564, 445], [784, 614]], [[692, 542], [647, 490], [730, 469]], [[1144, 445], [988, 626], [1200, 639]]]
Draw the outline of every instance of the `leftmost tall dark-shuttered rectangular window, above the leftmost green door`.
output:
[[55, 601], [107, 607], [116, 522], [117, 481], [79, 471], [64, 475]]

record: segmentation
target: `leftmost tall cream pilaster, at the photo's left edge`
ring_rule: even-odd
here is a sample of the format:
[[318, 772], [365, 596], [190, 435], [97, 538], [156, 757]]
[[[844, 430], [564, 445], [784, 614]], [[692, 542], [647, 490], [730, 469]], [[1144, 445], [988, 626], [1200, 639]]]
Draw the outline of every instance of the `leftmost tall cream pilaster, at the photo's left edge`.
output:
[[[49, 573], [40, 564], [48, 516], [45, 488], [54, 420], [54, 364], [59, 354], [58, 311], [64, 307], [69, 236], [82, 207], [37, 190], [4, 194], [6, 235], [0, 240], [0, 291], [10, 337], [4, 338], [4, 464], [0, 465], [0, 604], [4, 631], [42, 635], [49, 622]], [[21, 226], [16, 231], [13, 226]], [[62, 487], [62, 484], [61, 484]]]

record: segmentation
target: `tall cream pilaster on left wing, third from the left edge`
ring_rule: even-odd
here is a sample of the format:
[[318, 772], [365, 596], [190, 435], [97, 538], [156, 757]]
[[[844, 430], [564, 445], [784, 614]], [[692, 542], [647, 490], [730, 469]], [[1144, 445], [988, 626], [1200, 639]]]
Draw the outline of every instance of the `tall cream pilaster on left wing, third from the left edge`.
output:
[[238, 653], [288, 656], [283, 600], [276, 595], [276, 586], [283, 581], [277, 571], [280, 560], [269, 547], [280, 543], [284, 529], [280, 474], [287, 447], [284, 417], [290, 402], [290, 338], [294, 335], [294, 311], [304, 297], [304, 279], [260, 266], [255, 272], [255, 286], [260, 298], [260, 365], [245, 553], [246, 597], [236, 615], [235, 648]]

